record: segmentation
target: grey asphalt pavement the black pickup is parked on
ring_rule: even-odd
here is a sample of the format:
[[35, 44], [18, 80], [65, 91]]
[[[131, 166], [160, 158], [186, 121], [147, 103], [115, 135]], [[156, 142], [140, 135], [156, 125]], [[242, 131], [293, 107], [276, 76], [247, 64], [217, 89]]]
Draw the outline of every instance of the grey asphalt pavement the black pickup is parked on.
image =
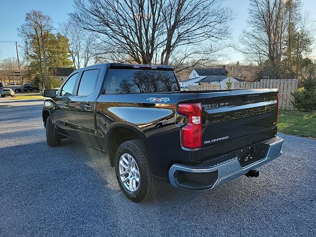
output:
[[260, 177], [192, 192], [163, 184], [151, 202], [119, 191], [102, 153], [46, 145], [39, 104], [0, 106], [0, 236], [315, 236], [316, 141], [280, 134]]

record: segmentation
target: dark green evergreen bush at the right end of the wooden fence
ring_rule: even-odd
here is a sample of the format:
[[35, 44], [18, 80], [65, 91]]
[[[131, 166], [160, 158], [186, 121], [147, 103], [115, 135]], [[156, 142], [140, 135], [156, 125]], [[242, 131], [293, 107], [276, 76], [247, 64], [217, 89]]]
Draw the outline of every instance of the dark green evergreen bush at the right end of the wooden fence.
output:
[[309, 77], [302, 83], [304, 89], [294, 93], [295, 109], [299, 111], [316, 110], [316, 78]]

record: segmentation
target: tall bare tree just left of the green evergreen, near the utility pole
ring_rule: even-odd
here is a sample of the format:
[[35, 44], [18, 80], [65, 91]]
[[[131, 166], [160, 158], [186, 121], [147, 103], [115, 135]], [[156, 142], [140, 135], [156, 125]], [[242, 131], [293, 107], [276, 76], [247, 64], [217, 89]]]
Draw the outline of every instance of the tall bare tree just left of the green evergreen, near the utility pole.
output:
[[52, 20], [41, 11], [32, 10], [26, 14], [25, 23], [18, 29], [19, 36], [24, 40], [24, 51], [27, 59], [38, 63], [40, 77], [44, 87], [48, 88], [48, 67], [47, 67], [47, 41], [52, 32]]

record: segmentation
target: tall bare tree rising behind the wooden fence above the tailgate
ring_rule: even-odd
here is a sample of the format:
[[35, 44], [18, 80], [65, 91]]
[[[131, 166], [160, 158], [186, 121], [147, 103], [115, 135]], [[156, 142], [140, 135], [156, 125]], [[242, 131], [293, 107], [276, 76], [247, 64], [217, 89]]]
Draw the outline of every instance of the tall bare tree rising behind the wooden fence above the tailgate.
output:
[[258, 64], [269, 60], [277, 67], [284, 51], [284, 38], [287, 29], [287, 5], [284, 0], [250, 0], [249, 30], [244, 30], [240, 50], [246, 59]]

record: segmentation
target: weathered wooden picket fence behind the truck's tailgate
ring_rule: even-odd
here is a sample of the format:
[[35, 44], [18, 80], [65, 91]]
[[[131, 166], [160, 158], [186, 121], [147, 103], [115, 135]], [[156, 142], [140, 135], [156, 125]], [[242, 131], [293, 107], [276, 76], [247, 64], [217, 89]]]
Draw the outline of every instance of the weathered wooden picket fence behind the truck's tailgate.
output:
[[[280, 95], [279, 109], [293, 110], [294, 96], [297, 91], [298, 79], [261, 79], [260, 81], [240, 81], [233, 83], [233, 89], [277, 88]], [[190, 85], [189, 90], [220, 90], [219, 84]]]

